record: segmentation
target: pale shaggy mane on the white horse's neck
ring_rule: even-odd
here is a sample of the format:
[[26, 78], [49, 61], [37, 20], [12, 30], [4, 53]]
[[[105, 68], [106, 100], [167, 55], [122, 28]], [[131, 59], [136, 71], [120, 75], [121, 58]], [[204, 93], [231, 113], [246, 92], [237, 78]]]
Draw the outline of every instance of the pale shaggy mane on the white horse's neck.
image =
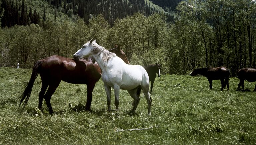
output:
[[115, 57], [116, 54], [115, 53], [112, 53], [112, 52], [109, 52], [106, 48], [98, 45], [97, 43], [95, 42], [92, 42], [92, 46], [93, 46], [93, 49], [91, 50], [91, 52], [94, 54], [94, 55], [100, 55], [102, 53], [102, 61], [104, 62], [108, 62], [112, 57]]

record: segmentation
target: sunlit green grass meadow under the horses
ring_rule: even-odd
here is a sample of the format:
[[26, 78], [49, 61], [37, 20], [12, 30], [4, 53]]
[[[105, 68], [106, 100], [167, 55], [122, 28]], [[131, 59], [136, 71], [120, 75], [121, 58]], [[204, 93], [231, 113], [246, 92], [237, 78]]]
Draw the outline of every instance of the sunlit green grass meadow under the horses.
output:
[[[124, 90], [119, 111], [107, 112], [102, 80], [93, 91], [92, 111], [83, 111], [86, 86], [61, 82], [51, 99], [55, 114], [49, 115], [44, 102], [43, 113], [37, 109], [39, 76], [25, 110], [18, 113], [17, 92], [26, 86], [31, 71], [0, 68], [0, 144], [256, 143], [255, 83], [245, 82], [246, 89], [238, 91], [238, 79], [230, 78], [230, 90], [220, 91], [219, 80], [209, 90], [205, 77], [162, 75], [154, 83], [148, 116], [144, 95], [136, 114], [128, 113], [132, 98]], [[115, 108], [113, 89], [111, 100]], [[148, 129], [128, 131], [143, 128]]]

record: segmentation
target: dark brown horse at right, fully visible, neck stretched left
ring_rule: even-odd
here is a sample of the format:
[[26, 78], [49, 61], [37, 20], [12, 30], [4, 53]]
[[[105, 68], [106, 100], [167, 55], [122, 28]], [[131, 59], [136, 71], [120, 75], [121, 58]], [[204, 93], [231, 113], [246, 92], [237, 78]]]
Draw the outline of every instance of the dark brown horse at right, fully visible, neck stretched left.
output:
[[195, 69], [193, 72], [190, 73], [191, 76], [196, 76], [198, 74], [203, 75], [208, 79], [211, 90], [212, 90], [212, 80], [220, 80], [221, 91], [226, 85], [227, 85], [227, 88], [229, 89], [228, 81], [229, 81], [230, 70], [227, 69], [226, 67], [221, 66], [221, 67], [210, 68], [210, 69], [199, 68], [199, 69]]

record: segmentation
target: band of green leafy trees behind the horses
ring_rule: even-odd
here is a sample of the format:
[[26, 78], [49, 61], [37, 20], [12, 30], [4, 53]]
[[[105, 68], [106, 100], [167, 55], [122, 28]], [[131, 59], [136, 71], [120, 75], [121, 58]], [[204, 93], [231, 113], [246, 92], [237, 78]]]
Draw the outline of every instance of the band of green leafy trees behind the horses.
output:
[[[1, 26], [4, 26], [5, 0], [0, 1]], [[109, 3], [110, 7], [106, 5], [106, 8], [111, 15], [106, 17], [104, 12], [88, 14], [88, 8], [84, 8], [88, 18], [75, 11], [79, 9], [78, 5], [71, 7], [72, 0], [60, 0], [58, 6], [53, 6], [54, 2], [40, 2], [45, 7], [52, 6], [46, 10], [33, 5], [31, 15], [30, 8], [25, 5], [27, 24], [19, 22], [0, 29], [0, 67], [16, 67], [20, 63], [22, 68], [32, 68], [35, 61], [51, 55], [72, 58], [91, 38], [106, 49], [120, 45], [131, 64], [161, 63], [164, 74], [187, 74], [195, 68], [226, 66], [235, 77], [237, 69], [255, 68], [256, 65], [255, 1], [181, 1], [172, 13], [173, 21], [167, 20], [166, 12], [151, 9], [151, 14], [145, 14], [148, 1], [144, 1], [144, 7], [139, 5], [142, 7], [138, 9], [142, 11], [125, 15], [119, 14], [126, 11], [124, 7], [112, 11], [111, 5], [117, 1], [95, 1], [97, 6], [102, 2]], [[132, 2], [140, 1], [121, 2], [133, 7]], [[23, 2], [17, 4], [12, 0], [12, 3], [19, 7], [21, 17]], [[98, 8], [102, 7], [96, 7], [96, 11]], [[120, 16], [113, 17], [113, 14]], [[32, 15], [40, 19], [33, 22]]]

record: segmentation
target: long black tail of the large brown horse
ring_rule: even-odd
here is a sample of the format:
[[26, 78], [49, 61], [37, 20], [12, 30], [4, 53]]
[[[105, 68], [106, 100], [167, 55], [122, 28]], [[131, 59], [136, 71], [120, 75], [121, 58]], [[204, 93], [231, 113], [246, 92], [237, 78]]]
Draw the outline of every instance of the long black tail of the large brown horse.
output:
[[[28, 99], [29, 99], [30, 94], [31, 94], [31, 92], [32, 92], [33, 84], [34, 84], [34, 82], [35, 82], [35, 80], [36, 80], [36, 78], [37, 78], [37, 76], [38, 76], [38, 73], [39, 73], [39, 71], [40, 71], [40, 68], [41, 68], [41, 66], [42, 66], [42, 63], [43, 63], [43, 62], [42, 62], [41, 60], [39, 60], [39, 61], [37, 61], [37, 62], [34, 64], [34, 67], [33, 67], [32, 74], [31, 74], [30, 80], [29, 80], [29, 82], [28, 82], [28, 85], [26, 86], [26, 89], [24, 90], [24, 92], [22, 93], [22, 95], [20, 95], [20, 96], [18, 97], [18, 101], [20, 102], [20, 105], [22, 104], [22, 102], [23, 102], [24, 99], [25, 99], [25, 101], [23, 102], [22, 110], [25, 108], [25, 106], [26, 106], [26, 104], [27, 104], [27, 102], [28, 102]], [[20, 107], [20, 105], [19, 105], [19, 107]]]

